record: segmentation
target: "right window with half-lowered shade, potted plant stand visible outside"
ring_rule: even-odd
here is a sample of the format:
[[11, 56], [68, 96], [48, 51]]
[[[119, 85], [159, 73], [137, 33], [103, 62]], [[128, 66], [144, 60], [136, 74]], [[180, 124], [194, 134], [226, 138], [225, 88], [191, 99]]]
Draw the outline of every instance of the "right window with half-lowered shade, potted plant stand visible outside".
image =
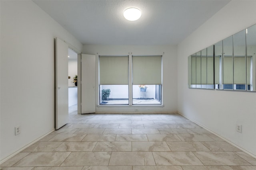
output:
[[162, 56], [132, 56], [132, 104], [161, 104]]

